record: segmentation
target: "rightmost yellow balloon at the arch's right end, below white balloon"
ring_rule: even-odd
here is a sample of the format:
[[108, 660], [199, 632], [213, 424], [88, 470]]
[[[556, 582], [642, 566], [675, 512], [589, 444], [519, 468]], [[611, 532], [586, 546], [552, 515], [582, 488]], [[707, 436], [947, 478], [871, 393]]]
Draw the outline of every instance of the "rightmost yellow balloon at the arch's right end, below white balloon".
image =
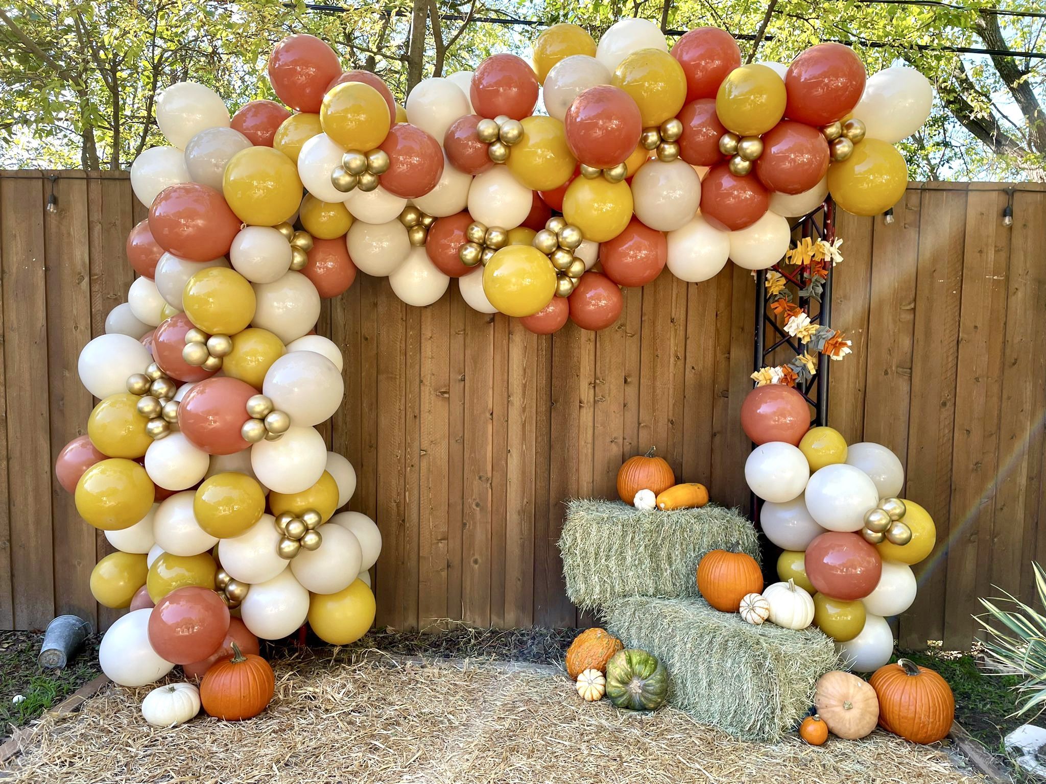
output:
[[878, 215], [905, 194], [908, 166], [896, 147], [865, 139], [845, 161], [828, 166], [828, 192], [836, 204], [855, 215]]

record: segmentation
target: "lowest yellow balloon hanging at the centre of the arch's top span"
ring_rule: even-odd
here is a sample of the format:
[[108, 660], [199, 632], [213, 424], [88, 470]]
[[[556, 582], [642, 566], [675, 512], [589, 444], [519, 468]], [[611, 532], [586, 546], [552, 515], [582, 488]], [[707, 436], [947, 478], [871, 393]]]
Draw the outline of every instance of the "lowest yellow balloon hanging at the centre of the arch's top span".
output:
[[506, 316], [533, 316], [555, 296], [555, 270], [537, 248], [509, 245], [483, 268], [483, 293]]

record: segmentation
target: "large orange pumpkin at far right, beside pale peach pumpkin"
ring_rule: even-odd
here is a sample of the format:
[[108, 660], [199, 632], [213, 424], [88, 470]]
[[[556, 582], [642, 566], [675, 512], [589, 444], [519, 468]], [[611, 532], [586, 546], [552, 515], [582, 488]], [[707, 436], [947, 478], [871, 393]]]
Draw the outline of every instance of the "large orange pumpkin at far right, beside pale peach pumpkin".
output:
[[913, 743], [934, 743], [952, 729], [955, 696], [939, 674], [907, 659], [868, 679], [879, 696], [879, 725]]

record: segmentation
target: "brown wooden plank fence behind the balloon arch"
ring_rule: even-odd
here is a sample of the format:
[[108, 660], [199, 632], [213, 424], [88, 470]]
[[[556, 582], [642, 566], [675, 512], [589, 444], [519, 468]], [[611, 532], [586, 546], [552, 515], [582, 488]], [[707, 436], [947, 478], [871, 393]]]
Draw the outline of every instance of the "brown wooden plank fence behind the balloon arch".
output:
[[[937, 523], [904, 645], [969, 644], [976, 597], [1028, 596], [1046, 555], [1046, 188], [1016, 186], [1011, 228], [1004, 188], [913, 185], [892, 225], [840, 213], [834, 326], [854, 354], [833, 364], [831, 423], [896, 452], [905, 495]], [[108, 543], [52, 463], [86, 426], [76, 356], [126, 297], [123, 243], [143, 216], [124, 174], [0, 177], [0, 627], [115, 617], [88, 587]], [[747, 508], [750, 274], [664, 274], [624, 300], [615, 327], [554, 338], [473, 312], [455, 286], [414, 308], [361, 275], [324, 303], [346, 392], [326, 435], [357, 467], [350, 507], [385, 539], [380, 625], [588, 623], [563, 592], [562, 502], [613, 495], [622, 458], [652, 444], [680, 479]]]

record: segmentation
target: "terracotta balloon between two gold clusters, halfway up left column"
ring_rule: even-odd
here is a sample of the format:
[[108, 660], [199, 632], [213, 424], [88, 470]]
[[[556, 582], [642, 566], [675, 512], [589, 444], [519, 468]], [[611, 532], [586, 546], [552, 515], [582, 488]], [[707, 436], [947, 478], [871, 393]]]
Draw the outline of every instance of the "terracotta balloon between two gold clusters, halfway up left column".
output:
[[208, 455], [231, 455], [250, 444], [240, 434], [250, 417], [247, 400], [257, 390], [228, 376], [195, 385], [178, 406], [178, 426], [185, 438]]

